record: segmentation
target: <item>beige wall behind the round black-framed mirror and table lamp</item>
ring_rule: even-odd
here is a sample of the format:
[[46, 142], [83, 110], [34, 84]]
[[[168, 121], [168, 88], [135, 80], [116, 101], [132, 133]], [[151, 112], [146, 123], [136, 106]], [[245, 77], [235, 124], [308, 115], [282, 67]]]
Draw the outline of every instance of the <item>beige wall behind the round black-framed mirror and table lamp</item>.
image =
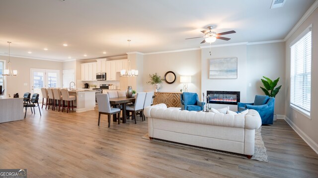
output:
[[161, 54], [149, 54], [144, 56], [144, 90], [155, 90], [156, 87], [146, 84], [149, 81], [149, 74], [157, 73], [162, 79], [168, 71], [174, 72], [176, 80], [173, 84], [161, 83], [162, 92], [180, 92], [183, 84], [180, 83], [180, 76], [191, 76], [191, 84], [188, 84], [189, 92], [201, 93], [201, 51], [183, 51]]

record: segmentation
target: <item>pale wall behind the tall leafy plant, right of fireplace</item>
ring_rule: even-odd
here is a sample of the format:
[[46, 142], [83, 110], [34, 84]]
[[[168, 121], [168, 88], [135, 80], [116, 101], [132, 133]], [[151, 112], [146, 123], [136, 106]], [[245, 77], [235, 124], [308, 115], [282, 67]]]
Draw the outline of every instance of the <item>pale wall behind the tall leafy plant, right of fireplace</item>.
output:
[[264, 94], [259, 88], [263, 87], [263, 76], [280, 78], [277, 86], [282, 88], [275, 97], [275, 113], [285, 115], [285, 42], [247, 45], [247, 102], [253, 102], [256, 94]]

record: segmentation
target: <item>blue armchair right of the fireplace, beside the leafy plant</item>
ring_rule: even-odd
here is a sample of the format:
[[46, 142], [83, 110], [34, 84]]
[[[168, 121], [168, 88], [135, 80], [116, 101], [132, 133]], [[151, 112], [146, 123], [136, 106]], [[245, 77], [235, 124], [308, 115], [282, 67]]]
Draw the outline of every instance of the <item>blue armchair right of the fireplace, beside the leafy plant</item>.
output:
[[274, 106], [274, 97], [256, 95], [253, 103], [238, 102], [238, 111], [254, 109], [259, 113], [262, 124], [273, 124]]

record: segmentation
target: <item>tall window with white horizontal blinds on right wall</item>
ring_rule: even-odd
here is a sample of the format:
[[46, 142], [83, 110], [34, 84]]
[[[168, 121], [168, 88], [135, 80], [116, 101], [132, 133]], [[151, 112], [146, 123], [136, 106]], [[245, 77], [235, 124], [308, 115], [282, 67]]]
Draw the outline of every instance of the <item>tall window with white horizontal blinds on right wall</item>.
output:
[[310, 116], [312, 25], [291, 43], [290, 105]]

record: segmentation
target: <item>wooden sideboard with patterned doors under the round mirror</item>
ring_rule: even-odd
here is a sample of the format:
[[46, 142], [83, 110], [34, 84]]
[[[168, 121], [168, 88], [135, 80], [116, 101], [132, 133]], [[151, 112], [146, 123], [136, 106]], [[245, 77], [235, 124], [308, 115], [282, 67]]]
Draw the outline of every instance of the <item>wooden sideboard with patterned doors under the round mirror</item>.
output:
[[164, 103], [167, 107], [181, 107], [180, 94], [182, 92], [155, 92], [153, 104]]

